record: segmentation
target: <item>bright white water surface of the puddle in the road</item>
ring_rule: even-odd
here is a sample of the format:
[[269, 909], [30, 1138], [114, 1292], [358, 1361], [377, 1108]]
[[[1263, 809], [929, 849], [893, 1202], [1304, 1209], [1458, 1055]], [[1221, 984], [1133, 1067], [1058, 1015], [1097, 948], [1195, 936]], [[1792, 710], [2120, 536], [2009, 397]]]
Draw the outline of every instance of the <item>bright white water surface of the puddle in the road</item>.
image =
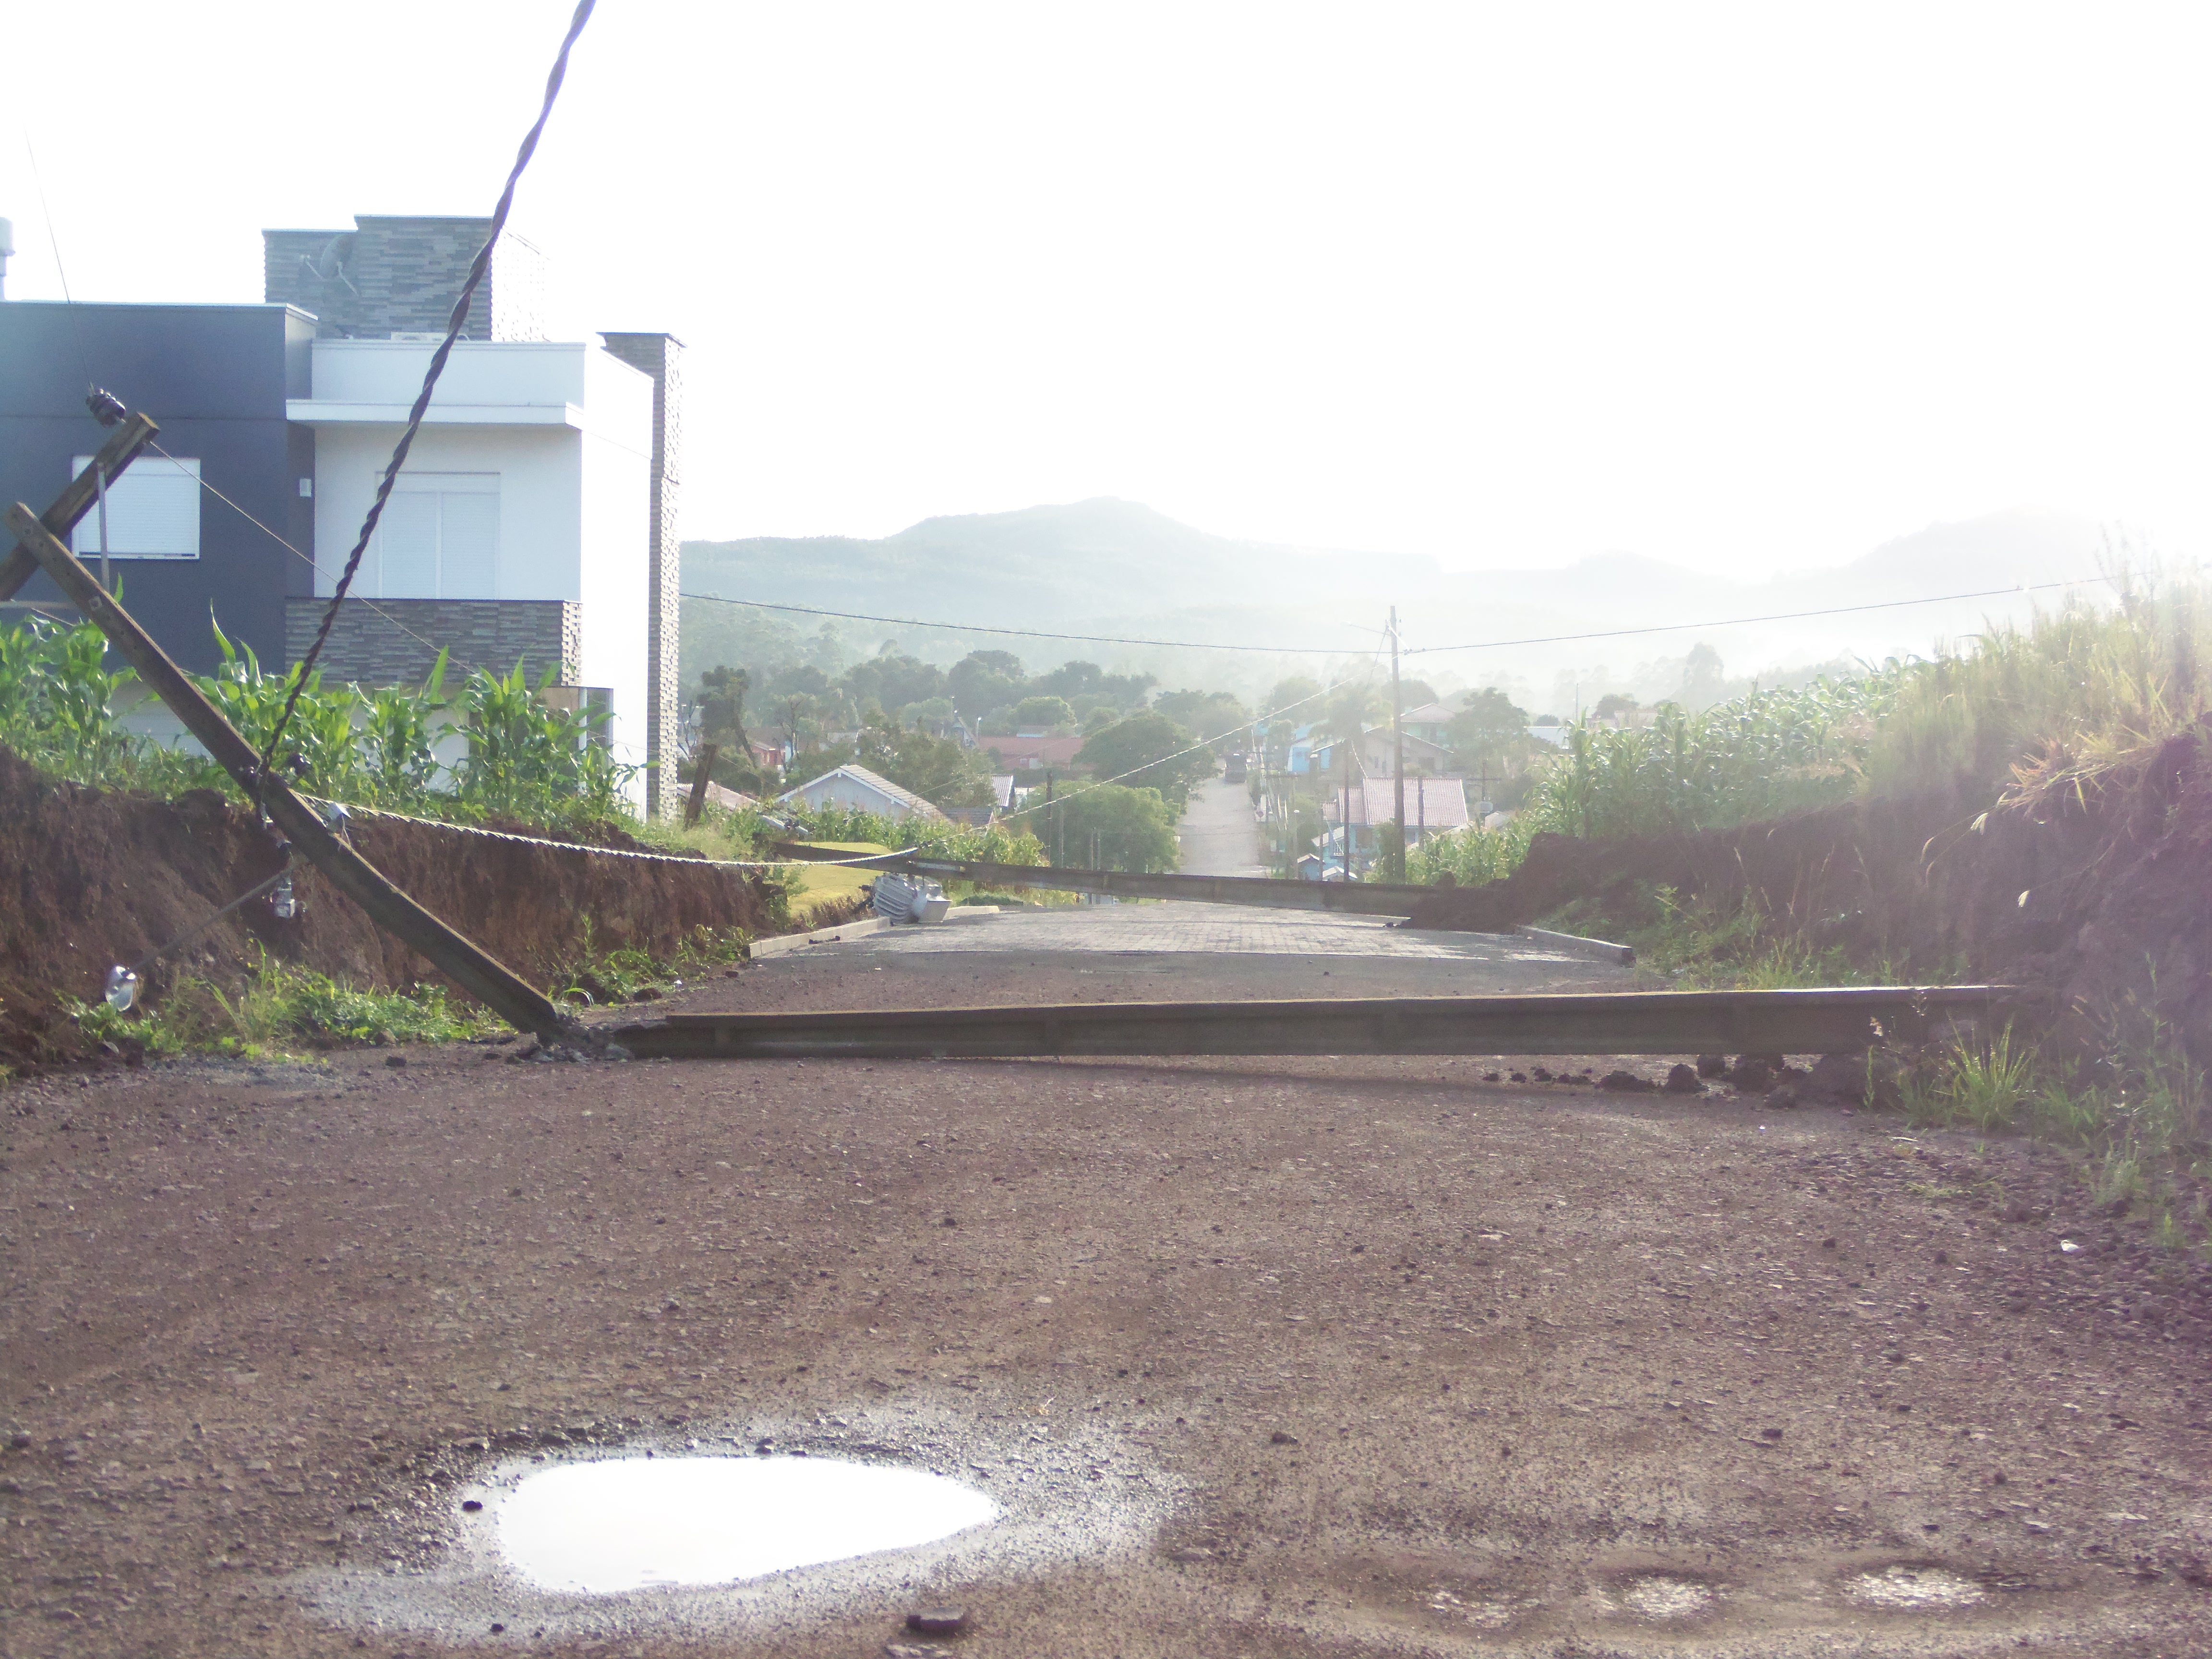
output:
[[914, 1548], [998, 1504], [920, 1469], [827, 1458], [606, 1458], [524, 1478], [498, 1502], [500, 1555], [540, 1590], [737, 1584]]

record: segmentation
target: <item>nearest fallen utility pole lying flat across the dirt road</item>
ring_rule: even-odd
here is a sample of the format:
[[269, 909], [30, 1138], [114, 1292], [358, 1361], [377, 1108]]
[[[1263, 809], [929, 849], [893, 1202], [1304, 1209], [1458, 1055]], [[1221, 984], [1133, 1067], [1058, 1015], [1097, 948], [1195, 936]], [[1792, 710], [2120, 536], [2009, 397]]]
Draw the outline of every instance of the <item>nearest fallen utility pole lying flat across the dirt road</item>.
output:
[[1621, 991], [1528, 998], [1057, 1002], [1029, 1009], [670, 1013], [613, 1042], [668, 1060], [1042, 1055], [1856, 1053], [1989, 1015], [2004, 987]]

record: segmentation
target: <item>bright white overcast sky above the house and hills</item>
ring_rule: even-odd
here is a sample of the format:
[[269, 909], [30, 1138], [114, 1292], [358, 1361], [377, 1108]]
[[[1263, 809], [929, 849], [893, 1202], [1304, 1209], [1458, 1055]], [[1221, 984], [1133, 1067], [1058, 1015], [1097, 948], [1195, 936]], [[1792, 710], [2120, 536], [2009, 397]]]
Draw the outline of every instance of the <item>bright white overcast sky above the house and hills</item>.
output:
[[[241, 301], [263, 226], [489, 212], [568, 11], [86, 15], [7, 24], [75, 296]], [[573, 330], [690, 345], [695, 538], [1126, 495], [1754, 575], [2033, 504], [2201, 553], [2208, 18], [602, 0], [515, 223]]]

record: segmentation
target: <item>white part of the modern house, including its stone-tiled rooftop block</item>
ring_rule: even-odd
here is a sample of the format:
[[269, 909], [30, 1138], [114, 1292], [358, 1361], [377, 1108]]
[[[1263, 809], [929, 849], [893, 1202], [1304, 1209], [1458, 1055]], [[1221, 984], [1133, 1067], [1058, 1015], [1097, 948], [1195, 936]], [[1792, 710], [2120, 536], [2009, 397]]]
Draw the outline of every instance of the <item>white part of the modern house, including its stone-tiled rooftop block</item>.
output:
[[[327, 608], [407, 425], [487, 219], [358, 217], [354, 230], [265, 230], [270, 303], [312, 314], [288, 429], [314, 500], [314, 571], [288, 588], [296, 659]], [[493, 248], [383, 522], [323, 650], [325, 677], [420, 681], [438, 648], [471, 668], [611, 712], [617, 759], [646, 765], [639, 803], [677, 787], [677, 447], [681, 343], [670, 334], [546, 338], [544, 259]], [[307, 575], [307, 573], [303, 573]]]

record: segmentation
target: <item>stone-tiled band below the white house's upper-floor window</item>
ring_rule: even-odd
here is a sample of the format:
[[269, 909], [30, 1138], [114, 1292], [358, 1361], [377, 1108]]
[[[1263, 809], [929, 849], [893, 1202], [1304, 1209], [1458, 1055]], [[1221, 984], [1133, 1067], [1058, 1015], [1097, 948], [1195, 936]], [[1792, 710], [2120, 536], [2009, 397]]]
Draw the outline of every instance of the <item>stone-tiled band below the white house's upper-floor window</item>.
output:
[[[330, 599], [285, 602], [285, 657], [299, 661], [314, 644]], [[383, 615], [378, 615], [383, 613]], [[471, 668], [509, 672], [518, 661], [538, 677], [573, 684], [582, 657], [582, 606], [573, 599], [363, 599], [338, 608], [338, 624], [316, 666], [330, 684], [418, 686], [449, 648], [445, 681], [458, 686]]]

